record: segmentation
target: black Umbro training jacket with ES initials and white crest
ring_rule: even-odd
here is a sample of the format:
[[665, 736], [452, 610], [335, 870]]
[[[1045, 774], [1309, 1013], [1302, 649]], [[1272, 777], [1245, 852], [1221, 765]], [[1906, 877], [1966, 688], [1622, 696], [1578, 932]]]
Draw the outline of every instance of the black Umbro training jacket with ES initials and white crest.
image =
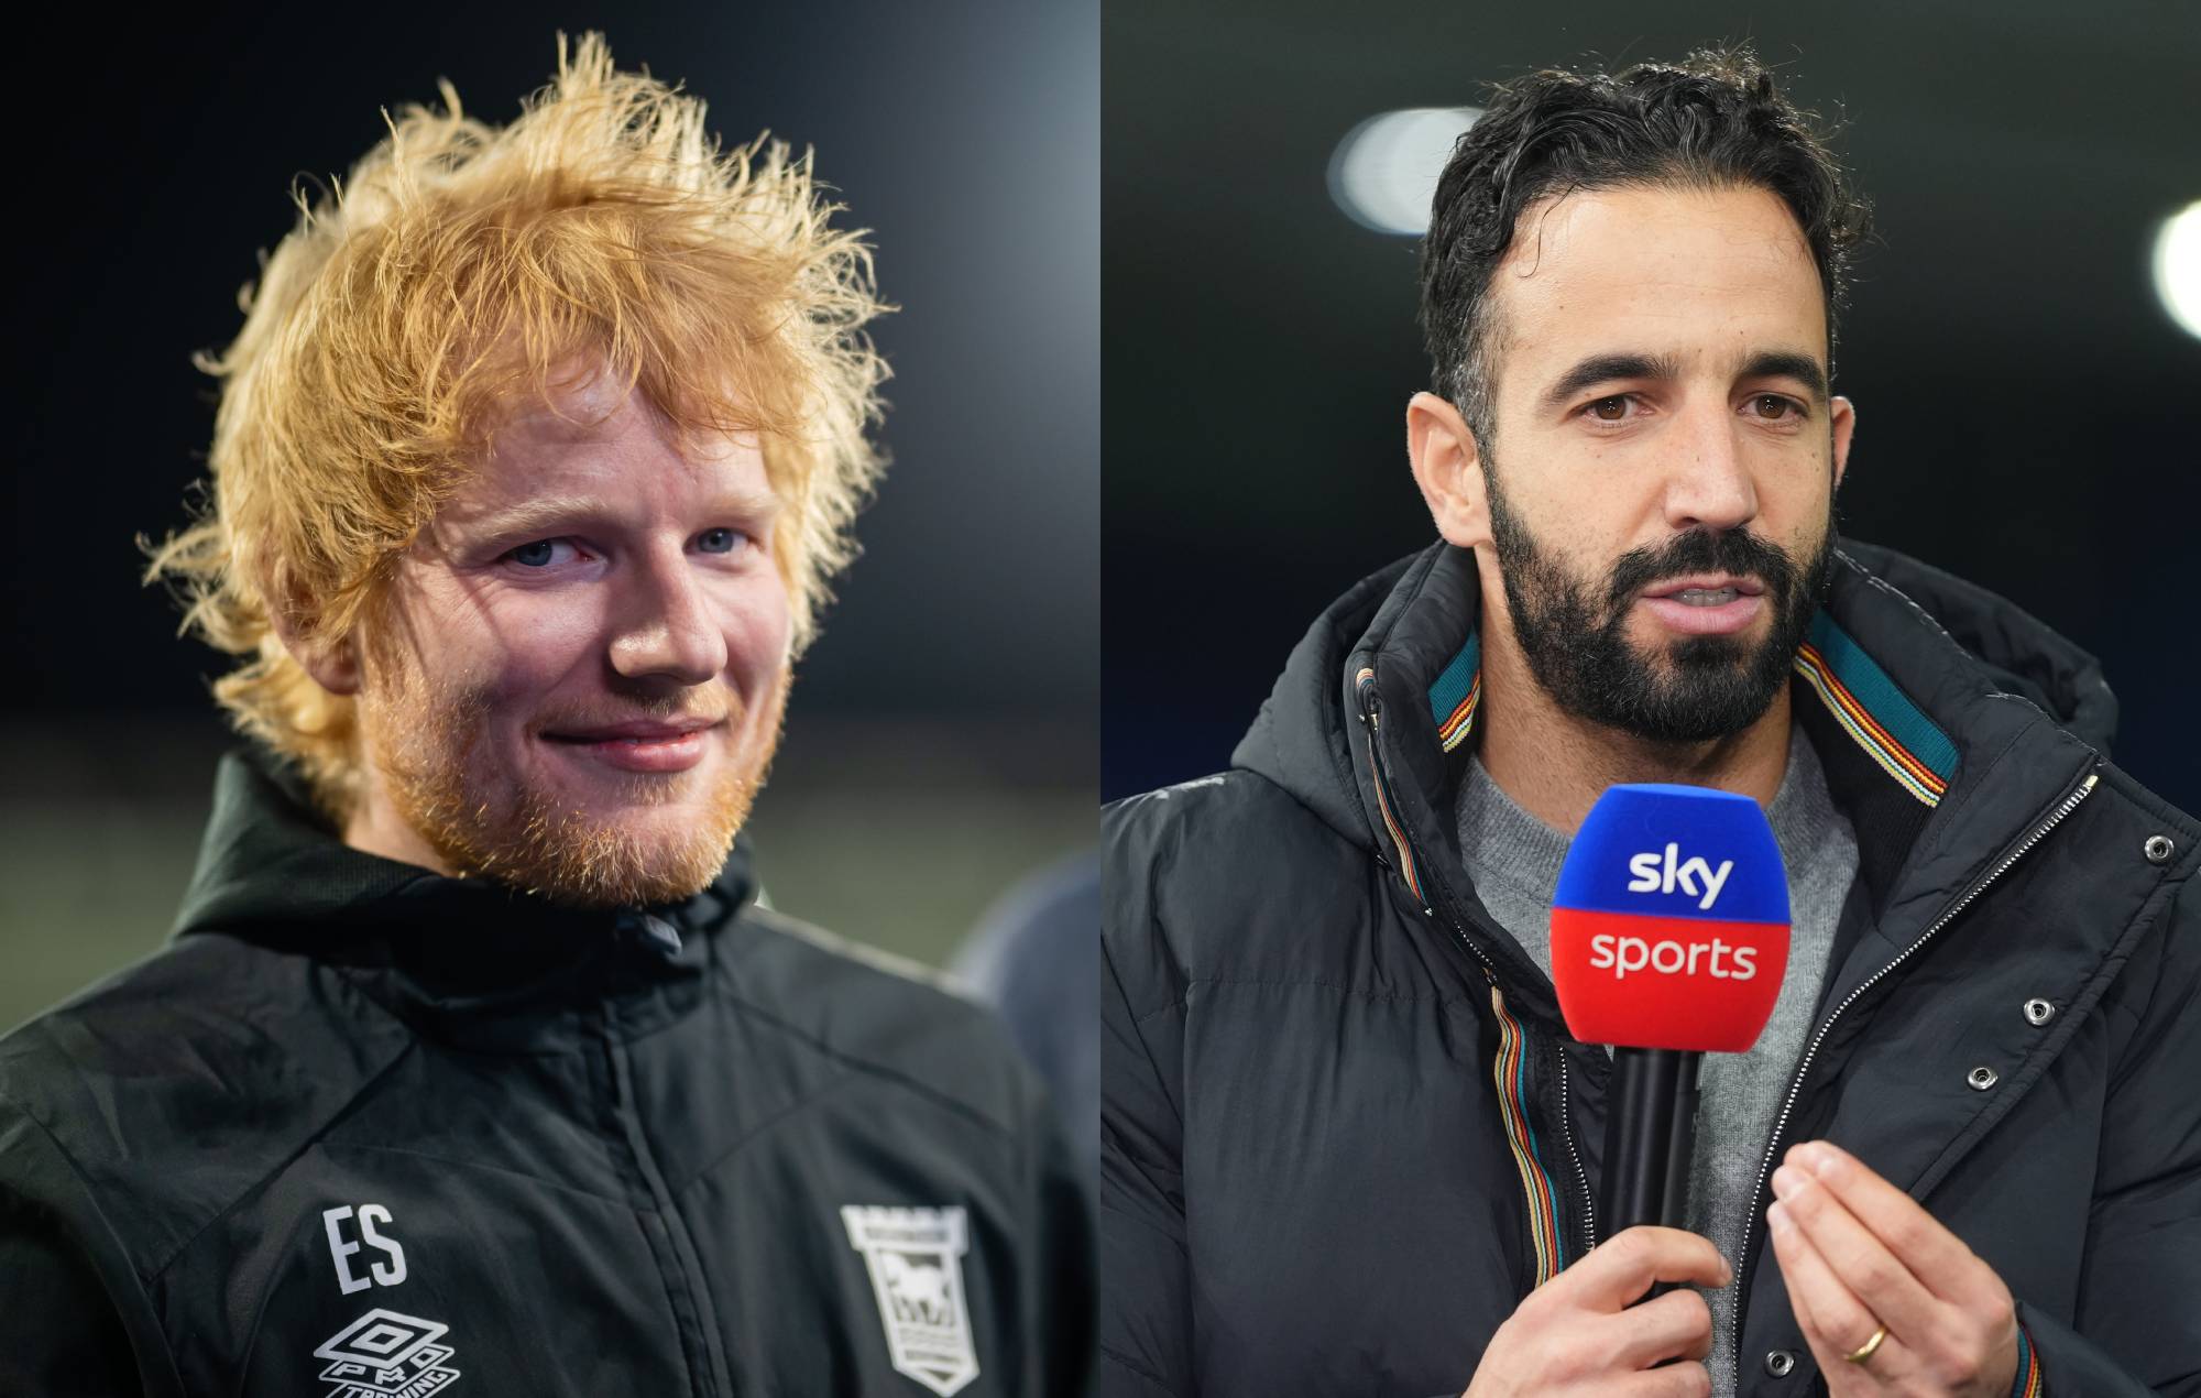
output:
[[0, 1041], [0, 1394], [1078, 1391], [1034, 1079], [746, 870], [557, 909], [227, 757], [172, 944]]

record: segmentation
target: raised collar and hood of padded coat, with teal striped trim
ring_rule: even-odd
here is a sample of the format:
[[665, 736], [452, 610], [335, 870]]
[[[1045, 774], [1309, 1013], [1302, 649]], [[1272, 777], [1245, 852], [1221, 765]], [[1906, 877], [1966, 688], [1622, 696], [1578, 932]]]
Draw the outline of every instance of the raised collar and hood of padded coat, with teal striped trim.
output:
[[[1477, 614], [1475, 557], [1448, 544], [1365, 579], [1316, 619], [1233, 755], [1391, 863], [1439, 927], [1446, 911], [1481, 916], [1450, 819], [1481, 700]], [[2093, 656], [1992, 592], [1851, 542], [1794, 698], [1893, 947], [2102, 762], [2115, 729]], [[1468, 949], [1523, 1008], [1556, 1017], [1510, 938]], [[1829, 982], [1884, 960], [1844, 964], [1847, 951]]]

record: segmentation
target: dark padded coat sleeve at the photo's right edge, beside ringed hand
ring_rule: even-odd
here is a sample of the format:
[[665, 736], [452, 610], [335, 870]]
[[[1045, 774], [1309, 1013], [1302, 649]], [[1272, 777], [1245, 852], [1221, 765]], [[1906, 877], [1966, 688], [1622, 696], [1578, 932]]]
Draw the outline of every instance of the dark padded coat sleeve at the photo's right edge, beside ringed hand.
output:
[[2126, 975], [2155, 989], [2111, 1081], [2076, 1325], [2018, 1299], [2054, 1398], [2201, 1396], [2201, 881]]

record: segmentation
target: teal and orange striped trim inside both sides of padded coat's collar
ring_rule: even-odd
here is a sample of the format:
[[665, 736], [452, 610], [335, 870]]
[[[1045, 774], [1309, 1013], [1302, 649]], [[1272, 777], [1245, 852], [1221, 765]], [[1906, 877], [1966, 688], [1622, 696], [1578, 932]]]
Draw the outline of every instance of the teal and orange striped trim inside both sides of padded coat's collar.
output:
[[[1880, 771], [1919, 804], [1941, 804], [1957, 775], [1957, 744], [1825, 610], [1811, 619], [1811, 634], [1796, 647], [1796, 674]], [[1477, 634], [1468, 634], [1468, 643], [1428, 687], [1428, 716], [1437, 722], [1437, 742], [1446, 753], [1475, 731], [1475, 709], [1481, 702], [1483, 647]]]

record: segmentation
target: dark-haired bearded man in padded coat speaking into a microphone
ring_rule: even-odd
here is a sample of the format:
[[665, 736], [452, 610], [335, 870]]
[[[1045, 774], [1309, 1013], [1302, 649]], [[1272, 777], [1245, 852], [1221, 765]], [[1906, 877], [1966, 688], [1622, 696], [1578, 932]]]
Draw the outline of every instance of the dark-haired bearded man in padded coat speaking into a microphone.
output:
[[[1105, 1391], [2201, 1394], [2201, 826], [2087, 652], [1838, 537], [1864, 222], [1745, 51], [1461, 136], [1439, 542], [1105, 817]], [[1754, 797], [1796, 911], [1688, 1226], [1602, 1235], [1550, 909], [1620, 782]]]

